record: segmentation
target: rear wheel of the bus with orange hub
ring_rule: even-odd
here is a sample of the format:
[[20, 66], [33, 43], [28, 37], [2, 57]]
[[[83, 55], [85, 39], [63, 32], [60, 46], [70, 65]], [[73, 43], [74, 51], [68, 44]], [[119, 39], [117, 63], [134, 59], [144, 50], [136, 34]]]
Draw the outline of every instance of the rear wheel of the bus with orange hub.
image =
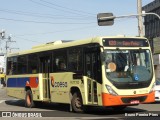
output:
[[28, 107], [28, 108], [35, 107], [31, 90], [26, 91], [25, 106]]

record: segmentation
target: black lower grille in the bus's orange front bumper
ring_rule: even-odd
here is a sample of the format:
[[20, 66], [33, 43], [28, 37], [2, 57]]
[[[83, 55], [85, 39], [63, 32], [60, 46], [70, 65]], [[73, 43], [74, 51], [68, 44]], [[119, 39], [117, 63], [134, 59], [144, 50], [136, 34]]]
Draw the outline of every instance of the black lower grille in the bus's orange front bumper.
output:
[[146, 100], [146, 96], [141, 96], [141, 97], [127, 97], [127, 98], [121, 98], [123, 103], [130, 103], [133, 100], [138, 100], [139, 102], [143, 102]]

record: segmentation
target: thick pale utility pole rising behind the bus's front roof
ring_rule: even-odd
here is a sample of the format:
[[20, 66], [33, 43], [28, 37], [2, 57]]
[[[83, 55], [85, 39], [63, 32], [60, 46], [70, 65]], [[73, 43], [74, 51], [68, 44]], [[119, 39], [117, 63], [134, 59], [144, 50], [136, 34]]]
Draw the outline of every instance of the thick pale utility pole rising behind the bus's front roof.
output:
[[140, 37], [144, 36], [143, 19], [142, 19], [142, 0], [137, 0], [137, 13], [138, 13], [138, 33]]

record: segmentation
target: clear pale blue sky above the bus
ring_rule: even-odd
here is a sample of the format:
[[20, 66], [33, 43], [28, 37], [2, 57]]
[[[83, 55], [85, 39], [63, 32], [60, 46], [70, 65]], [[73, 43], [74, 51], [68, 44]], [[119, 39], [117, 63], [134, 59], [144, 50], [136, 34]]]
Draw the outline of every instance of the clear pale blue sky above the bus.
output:
[[[142, 0], [142, 6], [152, 1]], [[56, 40], [138, 35], [136, 17], [98, 26], [97, 14], [109, 12], [137, 14], [137, 0], [0, 0], [0, 32], [5, 30], [5, 37], [16, 41], [8, 43], [12, 52]], [[4, 46], [5, 40], [0, 40], [2, 52]]]

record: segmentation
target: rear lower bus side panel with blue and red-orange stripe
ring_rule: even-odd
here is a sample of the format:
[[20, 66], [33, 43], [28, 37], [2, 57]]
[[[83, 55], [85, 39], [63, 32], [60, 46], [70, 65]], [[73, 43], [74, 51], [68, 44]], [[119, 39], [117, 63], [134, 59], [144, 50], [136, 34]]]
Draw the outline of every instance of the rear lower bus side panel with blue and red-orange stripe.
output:
[[[18, 99], [25, 99], [25, 87], [34, 89], [39, 94], [38, 75], [7, 76], [7, 95]], [[33, 91], [32, 91], [33, 92]], [[34, 97], [35, 92], [33, 92]]]

